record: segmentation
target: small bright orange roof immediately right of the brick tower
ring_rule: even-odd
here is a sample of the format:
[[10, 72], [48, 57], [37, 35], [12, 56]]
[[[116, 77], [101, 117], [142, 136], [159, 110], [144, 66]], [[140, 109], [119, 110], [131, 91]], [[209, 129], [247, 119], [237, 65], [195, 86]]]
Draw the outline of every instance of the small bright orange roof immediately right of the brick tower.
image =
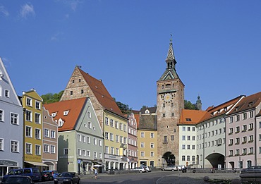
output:
[[178, 125], [195, 125], [200, 122], [207, 111], [183, 109]]

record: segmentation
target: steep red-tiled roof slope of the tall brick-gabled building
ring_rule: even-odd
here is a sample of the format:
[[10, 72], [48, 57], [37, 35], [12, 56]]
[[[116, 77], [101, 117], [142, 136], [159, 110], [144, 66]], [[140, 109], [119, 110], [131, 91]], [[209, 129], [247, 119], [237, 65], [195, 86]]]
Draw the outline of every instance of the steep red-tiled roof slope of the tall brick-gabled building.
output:
[[107, 111], [111, 111], [114, 114], [117, 114], [125, 118], [125, 116], [122, 114], [121, 110], [119, 109], [119, 106], [117, 106], [114, 98], [111, 97], [111, 94], [109, 94], [106, 87], [102, 83], [102, 80], [97, 80], [96, 78], [93, 78], [88, 73], [85, 73], [80, 68], [78, 69], [80, 70], [80, 73], [83, 75], [83, 78], [87, 82], [87, 85], [89, 85], [93, 94], [95, 94], [95, 97], [99, 101], [99, 104], [101, 104], [104, 107], [104, 109], [106, 109]]

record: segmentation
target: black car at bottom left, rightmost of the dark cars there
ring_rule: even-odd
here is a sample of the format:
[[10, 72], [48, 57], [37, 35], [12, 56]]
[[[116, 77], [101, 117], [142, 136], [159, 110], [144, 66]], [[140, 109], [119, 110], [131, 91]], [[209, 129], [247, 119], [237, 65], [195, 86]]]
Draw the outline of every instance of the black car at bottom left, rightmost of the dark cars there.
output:
[[80, 176], [75, 172], [63, 172], [56, 178], [54, 178], [54, 184], [57, 183], [78, 183], [80, 184]]

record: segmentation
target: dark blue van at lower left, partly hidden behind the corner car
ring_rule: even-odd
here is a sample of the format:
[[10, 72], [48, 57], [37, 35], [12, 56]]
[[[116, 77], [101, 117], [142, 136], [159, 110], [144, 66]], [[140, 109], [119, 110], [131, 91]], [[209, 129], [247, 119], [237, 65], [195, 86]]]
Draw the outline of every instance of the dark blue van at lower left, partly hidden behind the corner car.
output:
[[16, 169], [11, 169], [8, 174], [6, 174], [3, 178], [2, 181], [4, 182], [7, 180], [9, 176], [13, 175], [19, 175], [19, 176], [30, 176], [33, 181], [40, 181], [42, 179], [41, 173], [39, 171], [39, 168], [32, 167], [32, 168], [16, 168]]

